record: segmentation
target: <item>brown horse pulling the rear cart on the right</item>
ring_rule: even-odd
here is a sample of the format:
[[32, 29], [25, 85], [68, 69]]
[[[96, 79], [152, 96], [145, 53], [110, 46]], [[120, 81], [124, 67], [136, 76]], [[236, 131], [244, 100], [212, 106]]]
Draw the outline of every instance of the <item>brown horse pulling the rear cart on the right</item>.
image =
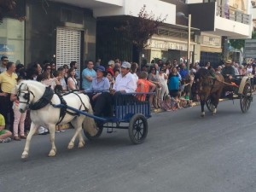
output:
[[218, 100], [224, 88], [224, 77], [219, 73], [214, 73], [206, 68], [200, 68], [195, 73], [196, 90], [201, 101], [201, 117], [205, 116], [205, 104], [211, 99], [213, 105], [212, 114], [217, 112]]

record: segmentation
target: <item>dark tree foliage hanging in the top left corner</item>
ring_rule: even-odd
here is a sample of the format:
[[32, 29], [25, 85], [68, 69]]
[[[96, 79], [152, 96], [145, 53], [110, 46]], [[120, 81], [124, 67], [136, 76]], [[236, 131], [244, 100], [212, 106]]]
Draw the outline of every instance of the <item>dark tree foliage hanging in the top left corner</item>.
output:
[[3, 21], [3, 17], [12, 16], [17, 20], [25, 20], [24, 15], [18, 15], [16, 13], [16, 6], [18, 0], [0, 0], [0, 22]]

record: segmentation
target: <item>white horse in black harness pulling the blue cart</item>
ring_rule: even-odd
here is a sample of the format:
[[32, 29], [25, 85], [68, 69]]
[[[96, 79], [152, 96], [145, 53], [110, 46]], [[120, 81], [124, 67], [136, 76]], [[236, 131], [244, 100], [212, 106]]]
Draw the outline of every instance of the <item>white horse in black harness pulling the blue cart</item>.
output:
[[[67, 109], [67, 113], [64, 112], [65, 116], [61, 115], [62, 118], [60, 118], [61, 108], [55, 108], [54, 105], [61, 104], [61, 99], [44, 84], [37, 81], [24, 80], [20, 82], [16, 88], [17, 96], [20, 101], [20, 112], [24, 113], [27, 108], [30, 108], [30, 118], [32, 119], [30, 131], [26, 137], [26, 145], [21, 155], [22, 159], [26, 159], [28, 157], [32, 135], [38, 131], [39, 126], [44, 126], [49, 129], [49, 137], [51, 142], [51, 149], [49, 151], [50, 157], [53, 157], [56, 154], [55, 126], [60, 123], [59, 121], [61, 121], [59, 125], [71, 122], [75, 127], [75, 133], [67, 146], [68, 149], [73, 148], [74, 141], [77, 136], [79, 136], [79, 148], [84, 147], [82, 126], [84, 126], [84, 129], [88, 131], [91, 136], [96, 135], [96, 124], [94, 119], [90, 117], [79, 115], [78, 113], [74, 113], [73, 111]], [[93, 114], [88, 96], [85, 96], [84, 94], [70, 93], [63, 96], [63, 99], [65, 102], [67, 102], [67, 106]]]

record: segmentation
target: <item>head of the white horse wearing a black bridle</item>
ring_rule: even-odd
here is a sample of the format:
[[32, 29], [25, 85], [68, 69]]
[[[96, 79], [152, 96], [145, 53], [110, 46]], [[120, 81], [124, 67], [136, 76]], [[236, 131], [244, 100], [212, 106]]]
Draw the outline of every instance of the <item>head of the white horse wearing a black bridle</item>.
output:
[[29, 108], [29, 105], [35, 96], [32, 90], [29, 89], [26, 81], [22, 81], [20, 84], [16, 85], [16, 90], [19, 100], [19, 111], [20, 113], [25, 113], [26, 109]]

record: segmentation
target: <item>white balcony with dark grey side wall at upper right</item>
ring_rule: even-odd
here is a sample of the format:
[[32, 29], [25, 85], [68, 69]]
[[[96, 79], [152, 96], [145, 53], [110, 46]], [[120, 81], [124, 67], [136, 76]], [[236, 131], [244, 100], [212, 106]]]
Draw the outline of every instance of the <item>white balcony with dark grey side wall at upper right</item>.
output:
[[220, 7], [214, 3], [189, 4], [192, 26], [212, 35], [228, 38], [251, 38], [252, 16], [241, 10]]

